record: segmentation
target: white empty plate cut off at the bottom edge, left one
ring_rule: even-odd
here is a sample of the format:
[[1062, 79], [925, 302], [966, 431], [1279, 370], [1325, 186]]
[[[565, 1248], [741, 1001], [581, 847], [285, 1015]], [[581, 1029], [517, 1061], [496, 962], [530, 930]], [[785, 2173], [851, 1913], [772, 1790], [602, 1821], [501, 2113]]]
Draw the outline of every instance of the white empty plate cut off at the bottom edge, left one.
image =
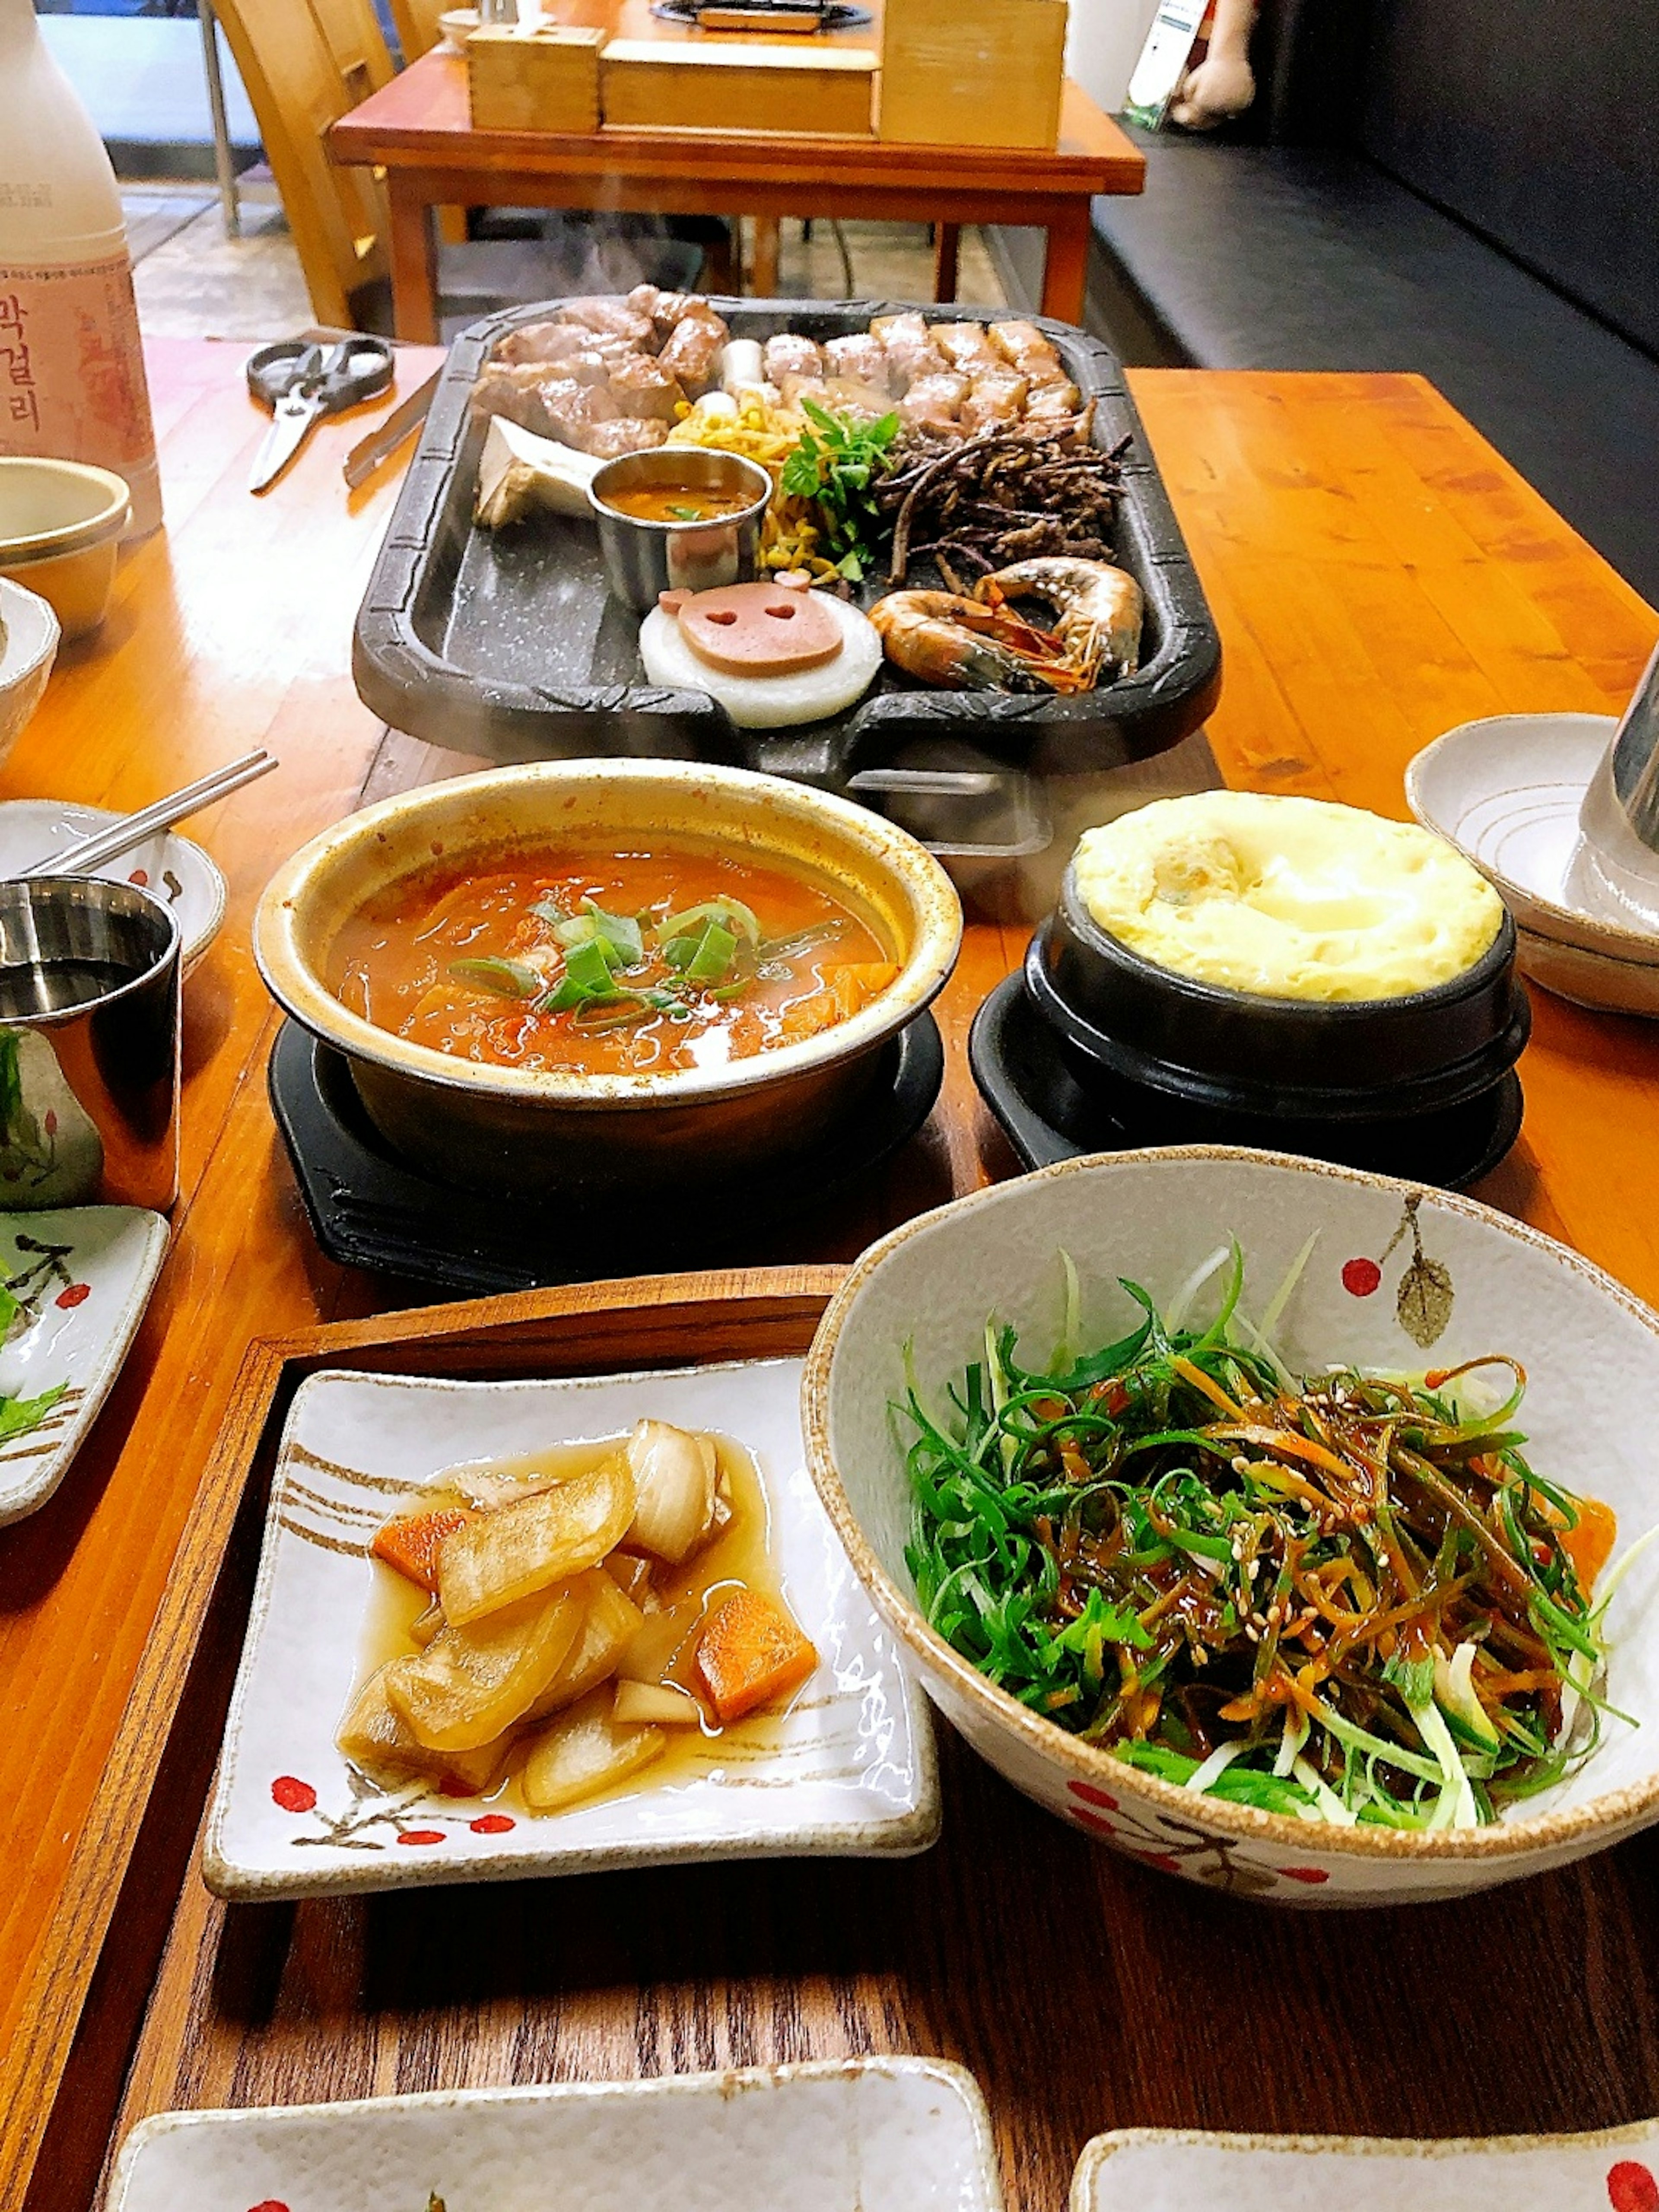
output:
[[159, 2112], [111, 2212], [1002, 2212], [973, 2075], [816, 2059], [666, 2081]]

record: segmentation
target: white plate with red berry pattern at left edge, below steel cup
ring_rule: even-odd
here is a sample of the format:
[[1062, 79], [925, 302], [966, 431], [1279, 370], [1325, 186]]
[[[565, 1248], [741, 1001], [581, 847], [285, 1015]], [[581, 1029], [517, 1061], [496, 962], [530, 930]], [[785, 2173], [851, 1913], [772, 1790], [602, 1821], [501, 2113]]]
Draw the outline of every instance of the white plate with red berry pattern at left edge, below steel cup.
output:
[[0, 1444], [0, 1528], [38, 1513], [69, 1473], [122, 1371], [168, 1248], [144, 1206], [0, 1214], [0, 1281], [31, 1316], [0, 1347], [0, 1391], [69, 1389], [35, 1429]]

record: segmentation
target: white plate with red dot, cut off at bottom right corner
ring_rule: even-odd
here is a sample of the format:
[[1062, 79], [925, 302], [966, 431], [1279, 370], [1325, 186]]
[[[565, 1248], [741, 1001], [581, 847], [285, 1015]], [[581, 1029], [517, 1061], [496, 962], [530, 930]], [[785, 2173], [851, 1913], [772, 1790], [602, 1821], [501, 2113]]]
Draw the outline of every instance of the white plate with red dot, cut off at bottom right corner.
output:
[[1659, 2212], [1657, 2174], [1659, 2121], [1444, 2143], [1126, 2128], [1086, 2146], [1071, 2212]]

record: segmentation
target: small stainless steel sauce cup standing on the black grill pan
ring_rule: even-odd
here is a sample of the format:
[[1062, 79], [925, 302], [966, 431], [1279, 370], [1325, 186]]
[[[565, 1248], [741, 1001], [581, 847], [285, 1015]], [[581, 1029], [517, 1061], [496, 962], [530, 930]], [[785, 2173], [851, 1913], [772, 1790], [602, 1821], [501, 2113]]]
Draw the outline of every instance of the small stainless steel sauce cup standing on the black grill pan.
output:
[[[608, 504], [617, 491], [719, 491], [750, 504], [717, 522], [641, 522]], [[770, 498], [772, 478], [759, 462], [706, 445], [659, 445], [608, 460], [588, 487], [588, 504], [611, 591], [646, 615], [664, 591], [748, 584], [759, 568]]]

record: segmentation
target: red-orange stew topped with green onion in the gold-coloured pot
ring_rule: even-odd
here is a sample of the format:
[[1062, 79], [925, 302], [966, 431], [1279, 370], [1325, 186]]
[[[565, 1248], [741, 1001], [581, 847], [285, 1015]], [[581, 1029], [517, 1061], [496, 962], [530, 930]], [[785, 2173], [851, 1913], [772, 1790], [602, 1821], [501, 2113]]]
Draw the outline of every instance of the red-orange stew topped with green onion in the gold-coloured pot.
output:
[[799, 1044], [896, 975], [814, 878], [690, 845], [422, 872], [354, 916], [330, 958], [341, 1002], [411, 1044], [588, 1075]]

